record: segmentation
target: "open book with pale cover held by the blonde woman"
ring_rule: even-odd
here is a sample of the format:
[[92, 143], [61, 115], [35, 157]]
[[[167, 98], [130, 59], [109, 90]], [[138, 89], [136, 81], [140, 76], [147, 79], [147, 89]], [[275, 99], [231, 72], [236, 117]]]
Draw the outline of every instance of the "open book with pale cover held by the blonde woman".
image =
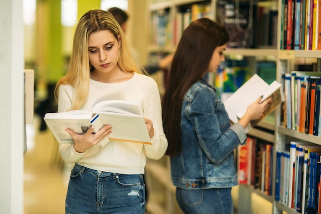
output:
[[44, 117], [54, 137], [61, 144], [71, 144], [73, 139], [66, 128], [82, 134], [93, 125], [95, 132], [110, 124], [113, 129], [100, 144], [109, 140], [151, 144], [144, 117], [136, 104], [123, 100], [108, 100], [95, 104], [92, 111], [73, 110], [46, 113]]

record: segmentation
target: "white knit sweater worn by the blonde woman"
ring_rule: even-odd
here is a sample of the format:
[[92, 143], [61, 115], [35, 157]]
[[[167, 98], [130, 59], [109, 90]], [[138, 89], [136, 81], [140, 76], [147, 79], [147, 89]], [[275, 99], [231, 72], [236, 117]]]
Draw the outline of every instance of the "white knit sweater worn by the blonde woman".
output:
[[[92, 106], [109, 94], [121, 91], [125, 100], [136, 103], [145, 118], [152, 120], [155, 134], [152, 145], [109, 141], [105, 146], [96, 145], [84, 153], [74, 150], [72, 144], [59, 145], [59, 151], [66, 163], [78, 163], [91, 169], [122, 173], [144, 173], [146, 157], [160, 159], [167, 148], [167, 139], [163, 131], [160, 96], [156, 82], [149, 76], [134, 74], [121, 83], [102, 83], [90, 80], [89, 94], [83, 109]], [[70, 85], [61, 85], [58, 96], [58, 112], [70, 109], [74, 89]], [[109, 98], [110, 99], [110, 98]]]

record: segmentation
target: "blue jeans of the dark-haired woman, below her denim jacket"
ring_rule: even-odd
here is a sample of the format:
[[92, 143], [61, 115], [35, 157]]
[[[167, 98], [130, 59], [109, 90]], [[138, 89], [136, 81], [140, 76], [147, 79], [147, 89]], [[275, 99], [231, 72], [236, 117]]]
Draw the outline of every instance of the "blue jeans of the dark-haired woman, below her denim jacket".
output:
[[233, 214], [232, 188], [176, 188], [176, 200], [185, 214]]

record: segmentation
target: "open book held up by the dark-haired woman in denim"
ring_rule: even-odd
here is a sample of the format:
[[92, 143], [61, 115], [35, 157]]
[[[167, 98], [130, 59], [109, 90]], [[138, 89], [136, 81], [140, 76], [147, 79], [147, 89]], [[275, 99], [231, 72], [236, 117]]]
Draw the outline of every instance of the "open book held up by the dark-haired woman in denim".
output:
[[247, 107], [256, 101], [261, 95], [263, 95], [261, 102], [271, 97], [272, 103], [264, 111], [261, 118], [249, 123], [246, 128], [246, 132], [256, 126], [258, 122], [260, 122], [266, 115], [271, 113], [276, 106], [284, 101], [282, 84], [274, 81], [269, 85], [257, 74], [254, 74], [224, 102], [230, 121], [237, 123], [237, 121], [245, 114]]

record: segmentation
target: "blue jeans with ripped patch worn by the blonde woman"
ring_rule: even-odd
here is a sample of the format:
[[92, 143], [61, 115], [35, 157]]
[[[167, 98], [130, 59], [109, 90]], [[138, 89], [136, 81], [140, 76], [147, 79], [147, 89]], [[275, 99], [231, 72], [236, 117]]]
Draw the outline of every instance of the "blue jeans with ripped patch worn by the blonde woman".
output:
[[145, 214], [142, 174], [117, 174], [75, 164], [71, 170], [66, 214]]

